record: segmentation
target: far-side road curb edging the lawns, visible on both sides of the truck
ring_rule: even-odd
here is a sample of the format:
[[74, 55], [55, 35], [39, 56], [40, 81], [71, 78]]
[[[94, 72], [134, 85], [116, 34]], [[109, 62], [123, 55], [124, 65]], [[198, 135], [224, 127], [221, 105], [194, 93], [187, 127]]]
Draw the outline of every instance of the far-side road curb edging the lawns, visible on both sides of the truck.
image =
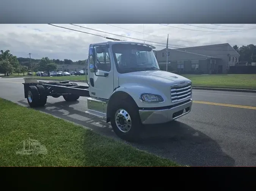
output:
[[[37, 79], [37, 80], [51, 80], [51, 81], [53, 80], [53, 79], [46, 79], [46, 78], [35, 78], [35, 79]], [[55, 80], [54, 79], [53, 81], [64, 81], [64, 80], [59, 80], [59, 79]], [[71, 81], [71, 82], [86, 82], [85, 80], [69, 80], [69, 81]], [[197, 86], [192, 86], [192, 89], [256, 93], [256, 89], [210, 88], [210, 87], [197, 87]]]

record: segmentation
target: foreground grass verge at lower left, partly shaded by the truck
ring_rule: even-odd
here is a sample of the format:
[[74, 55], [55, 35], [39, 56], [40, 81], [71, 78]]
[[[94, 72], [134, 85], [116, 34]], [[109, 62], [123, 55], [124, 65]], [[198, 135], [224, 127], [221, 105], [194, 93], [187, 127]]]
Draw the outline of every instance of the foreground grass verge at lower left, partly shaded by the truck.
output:
[[[179, 166], [4, 99], [0, 99], [0, 124], [0, 166]], [[17, 145], [27, 139], [38, 140], [47, 154], [16, 154]]]

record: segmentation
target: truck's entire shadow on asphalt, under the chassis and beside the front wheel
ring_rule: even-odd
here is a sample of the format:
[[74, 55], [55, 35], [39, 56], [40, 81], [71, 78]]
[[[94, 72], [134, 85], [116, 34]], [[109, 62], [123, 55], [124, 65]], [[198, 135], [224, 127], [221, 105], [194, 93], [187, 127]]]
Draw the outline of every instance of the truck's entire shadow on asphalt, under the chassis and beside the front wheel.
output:
[[[47, 103], [46, 107], [36, 110], [86, 126], [94, 131], [120, 140], [113, 132], [110, 123], [75, 109], [84, 101], [60, 101]], [[18, 103], [28, 106], [27, 100]], [[182, 165], [190, 166], [235, 166], [235, 161], [226, 155], [218, 143], [192, 126], [179, 121], [160, 125], [147, 125], [140, 143], [128, 143], [138, 149], [171, 159]]]

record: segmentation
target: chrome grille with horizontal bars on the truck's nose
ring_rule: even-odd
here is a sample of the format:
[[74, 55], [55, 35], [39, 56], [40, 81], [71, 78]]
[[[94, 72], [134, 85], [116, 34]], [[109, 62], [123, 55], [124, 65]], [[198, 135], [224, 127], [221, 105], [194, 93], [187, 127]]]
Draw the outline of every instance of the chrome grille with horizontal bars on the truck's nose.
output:
[[171, 102], [179, 102], [191, 97], [192, 84], [171, 86]]

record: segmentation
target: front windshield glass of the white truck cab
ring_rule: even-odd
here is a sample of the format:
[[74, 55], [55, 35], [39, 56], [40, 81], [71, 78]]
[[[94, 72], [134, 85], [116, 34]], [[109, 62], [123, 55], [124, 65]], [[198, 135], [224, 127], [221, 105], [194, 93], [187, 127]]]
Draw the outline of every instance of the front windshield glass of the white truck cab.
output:
[[112, 52], [119, 73], [159, 70], [155, 54], [148, 46], [114, 44]]

